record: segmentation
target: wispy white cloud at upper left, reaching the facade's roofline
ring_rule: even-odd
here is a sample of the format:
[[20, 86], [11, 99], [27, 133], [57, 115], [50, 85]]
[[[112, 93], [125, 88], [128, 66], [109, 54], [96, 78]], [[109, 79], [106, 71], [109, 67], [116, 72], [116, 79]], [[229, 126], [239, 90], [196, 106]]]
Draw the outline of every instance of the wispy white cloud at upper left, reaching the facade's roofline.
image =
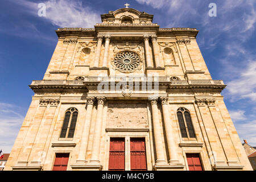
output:
[[82, 6], [80, 0], [48, 0], [42, 2], [46, 3], [46, 17], [38, 16], [38, 3], [28, 0], [13, 1], [13, 3], [22, 6], [21, 11], [46, 19], [59, 27], [93, 27], [94, 24], [101, 22], [100, 14], [90, 7]]

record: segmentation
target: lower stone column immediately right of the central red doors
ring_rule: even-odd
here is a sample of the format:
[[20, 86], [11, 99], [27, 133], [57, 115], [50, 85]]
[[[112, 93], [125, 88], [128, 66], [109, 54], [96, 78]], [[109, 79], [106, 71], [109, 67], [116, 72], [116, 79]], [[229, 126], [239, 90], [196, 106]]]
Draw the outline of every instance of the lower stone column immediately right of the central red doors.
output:
[[158, 115], [158, 97], [151, 100], [154, 138], [155, 138], [155, 151], [156, 151], [156, 164], [166, 163], [164, 159], [163, 140], [160, 131], [159, 115]]

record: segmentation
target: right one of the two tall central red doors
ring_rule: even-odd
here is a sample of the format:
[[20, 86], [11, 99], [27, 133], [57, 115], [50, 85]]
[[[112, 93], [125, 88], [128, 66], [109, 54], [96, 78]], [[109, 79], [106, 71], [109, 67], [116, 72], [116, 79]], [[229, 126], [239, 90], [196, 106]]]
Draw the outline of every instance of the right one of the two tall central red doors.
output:
[[143, 138], [131, 138], [131, 171], [147, 171], [146, 148]]

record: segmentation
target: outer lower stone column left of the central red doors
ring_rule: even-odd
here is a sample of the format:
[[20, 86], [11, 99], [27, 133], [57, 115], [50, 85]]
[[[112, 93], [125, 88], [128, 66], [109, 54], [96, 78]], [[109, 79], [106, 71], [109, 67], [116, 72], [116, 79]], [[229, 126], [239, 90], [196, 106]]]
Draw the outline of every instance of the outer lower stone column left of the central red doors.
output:
[[76, 160], [77, 163], [86, 163], [85, 158], [86, 158], [86, 152], [87, 152], [87, 144], [88, 144], [89, 133], [90, 133], [90, 120], [92, 118], [94, 101], [95, 101], [95, 97], [87, 97], [86, 117], [84, 121], [84, 126], [82, 128], [79, 157]]

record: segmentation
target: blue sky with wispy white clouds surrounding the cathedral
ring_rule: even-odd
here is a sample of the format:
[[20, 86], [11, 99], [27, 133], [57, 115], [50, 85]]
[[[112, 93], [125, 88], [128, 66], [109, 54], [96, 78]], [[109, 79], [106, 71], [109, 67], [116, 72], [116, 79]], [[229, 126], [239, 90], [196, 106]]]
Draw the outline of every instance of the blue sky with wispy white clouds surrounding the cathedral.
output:
[[[46, 17], [38, 4], [46, 3]], [[209, 3], [217, 16], [210, 17]], [[256, 1], [252, 0], [1, 0], [0, 6], [0, 147], [10, 152], [34, 94], [28, 87], [41, 80], [57, 43], [58, 27], [93, 27], [100, 15], [129, 3], [154, 14], [160, 27], [200, 30], [197, 42], [222, 92], [242, 139], [256, 146]], [[0, 148], [0, 149], [1, 149]]]

